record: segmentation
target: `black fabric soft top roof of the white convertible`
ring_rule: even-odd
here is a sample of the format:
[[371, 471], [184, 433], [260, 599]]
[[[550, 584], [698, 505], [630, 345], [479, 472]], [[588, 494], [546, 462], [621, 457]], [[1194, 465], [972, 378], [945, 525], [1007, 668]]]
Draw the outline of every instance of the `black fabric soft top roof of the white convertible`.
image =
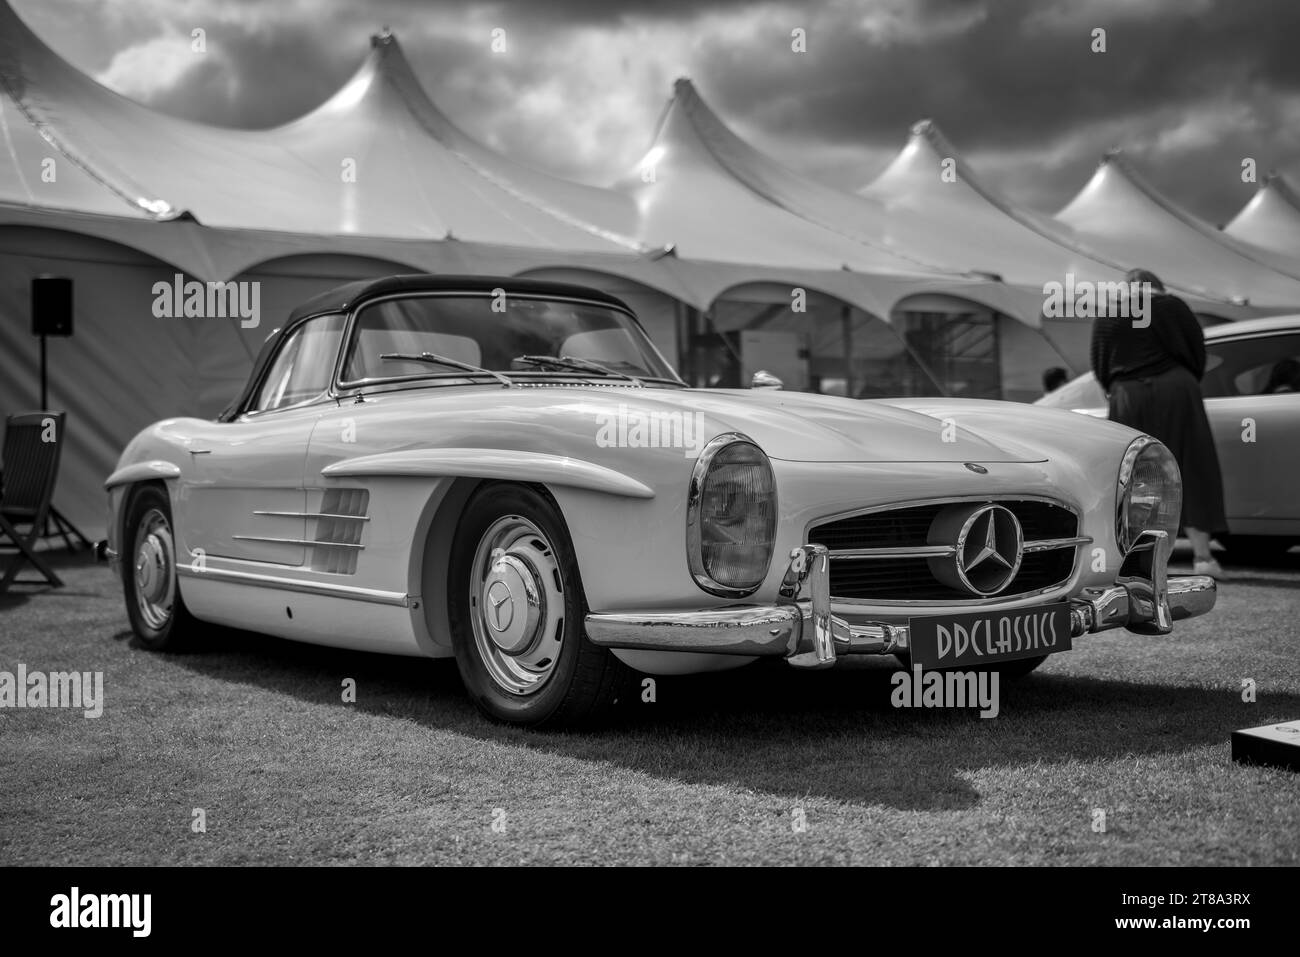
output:
[[244, 387], [239, 390], [239, 395], [235, 400], [226, 406], [221, 415], [217, 416], [217, 421], [230, 421], [239, 415], [239, 411], [252, 395], [252, 391], [256, 387], [257, 381], [261, 378], [261, 373], [266, 364], [270, 361], [270, 356], [276, 351], [276, 346], [285, 334], [285, 330], [300, 319], [324, 316], [330, 312], [348, 312], [364, 304], [369, 299], [380, 299], [395, 293], [491, 293], [494, 289], [506, 290], [507, 296], [537, 295], [543, 298], [555, 296], [564, 299], [586, 299], [589, 302], [603, 303], [606, 306], [614, 306], [632, 312], [632, 309], [628, 309], [627, 303], [621, 299], [618, 299], [608, 293], [602, 293], [598, 289], [575, 286], [571, 282], [521, 280], [511, 276], [434, 276], [432, 273], [408, 273], [403, 276], [385, 276], [380, 280], [356, 280], [355, 282], [346, 282], [342, 286], [335, 286], [334, 289], [326, 290], [325, 293], [315, 295], [304, 302], [289, 313], [289, 319], [285, 320], [280, 328], [266, 337], [266, 341], [261, 343], [261, 350], [257, 352], [257, 358], [254, 360], [252, 372], [248, 374]]

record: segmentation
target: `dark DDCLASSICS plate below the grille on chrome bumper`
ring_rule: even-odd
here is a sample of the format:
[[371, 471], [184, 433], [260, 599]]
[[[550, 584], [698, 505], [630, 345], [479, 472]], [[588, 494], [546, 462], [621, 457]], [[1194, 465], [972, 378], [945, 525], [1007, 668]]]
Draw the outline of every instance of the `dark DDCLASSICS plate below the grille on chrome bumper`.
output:
[[980, 667], [1069, 651], [1066, 602], [972, 615], [909, 619], [911, 663], [922, 668]]

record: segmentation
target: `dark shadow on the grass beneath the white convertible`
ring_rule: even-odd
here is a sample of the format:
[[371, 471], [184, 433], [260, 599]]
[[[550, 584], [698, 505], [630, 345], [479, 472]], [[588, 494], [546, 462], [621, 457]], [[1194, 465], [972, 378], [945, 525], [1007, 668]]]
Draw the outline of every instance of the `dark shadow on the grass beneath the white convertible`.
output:
[[[1004, 681], [996, 719], [976, 710], [894, 709], [892, 659], [872, 659], [822, 672], [759, 662], [736, 672], [659, 677], [654, 703], [634, 693], [602, 727], [560, 733], [480, 716], [450, 659], [224, 632], [209, 638], [209, 650], [173, 661], [315, 703], [337, 705], [342, 680], [351, 677], [359, 710], [443, 732], [686, 784], [902, 810], [974, 806], [980, 796], [968, 770], [1182, 753], [1226, 745], [1230, 731], [1268, 719], [1248, 714], [1231, 689], [1054, 674]], [[1300, 711], [1300, 696], [1270, 696], [1269, 707]]]

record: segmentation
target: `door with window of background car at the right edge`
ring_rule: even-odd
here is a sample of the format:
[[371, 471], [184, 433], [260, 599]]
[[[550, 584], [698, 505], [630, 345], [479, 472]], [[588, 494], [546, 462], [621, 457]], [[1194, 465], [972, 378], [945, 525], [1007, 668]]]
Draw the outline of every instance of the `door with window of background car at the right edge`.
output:
[[1300, 330], [1210, 339], [1201, 389], [1236, 534], [1300, 533]]

